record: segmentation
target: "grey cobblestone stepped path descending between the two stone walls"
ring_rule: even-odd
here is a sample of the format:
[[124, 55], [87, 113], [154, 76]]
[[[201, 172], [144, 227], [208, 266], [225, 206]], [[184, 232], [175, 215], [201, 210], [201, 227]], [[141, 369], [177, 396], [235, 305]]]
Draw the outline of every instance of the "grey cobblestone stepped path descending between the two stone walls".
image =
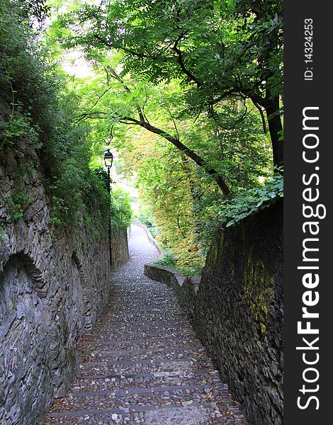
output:
[[130, 261], [77, 349], [79, 375], [42, 424], [237, 424], [232, 400], [171, 289], [143, 276], [157, 251], [132, 225]]

